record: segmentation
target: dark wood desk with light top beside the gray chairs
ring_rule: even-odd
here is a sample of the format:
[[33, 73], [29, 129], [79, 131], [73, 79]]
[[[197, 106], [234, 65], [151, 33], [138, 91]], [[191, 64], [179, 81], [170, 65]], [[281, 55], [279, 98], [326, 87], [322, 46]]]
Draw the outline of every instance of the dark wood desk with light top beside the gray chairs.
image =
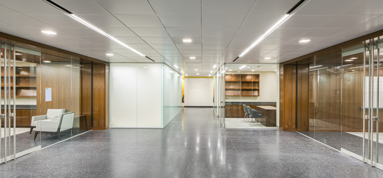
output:
[[277, 108], [274, 106], [255, 106], [257, 111], [260, 111], [262, 117], [259, 118], [259, 121], [262, 125], [266, 127], [276, 127], [277, 126]]

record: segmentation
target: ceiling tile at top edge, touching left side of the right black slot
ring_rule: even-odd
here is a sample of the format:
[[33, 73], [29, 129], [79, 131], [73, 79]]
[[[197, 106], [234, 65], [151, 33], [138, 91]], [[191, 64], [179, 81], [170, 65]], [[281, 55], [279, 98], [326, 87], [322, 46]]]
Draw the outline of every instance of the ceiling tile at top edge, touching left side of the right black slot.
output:
[[249, 15], [283, 15], [297, 0], [256, 0]]

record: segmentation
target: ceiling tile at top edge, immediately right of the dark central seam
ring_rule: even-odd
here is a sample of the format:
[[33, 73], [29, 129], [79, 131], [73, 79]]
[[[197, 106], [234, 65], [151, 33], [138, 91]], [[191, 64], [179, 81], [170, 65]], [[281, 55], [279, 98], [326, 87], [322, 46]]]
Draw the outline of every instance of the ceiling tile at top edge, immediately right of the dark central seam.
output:
[[246, 15], [254, 0], [203, 0], [203, 15]]

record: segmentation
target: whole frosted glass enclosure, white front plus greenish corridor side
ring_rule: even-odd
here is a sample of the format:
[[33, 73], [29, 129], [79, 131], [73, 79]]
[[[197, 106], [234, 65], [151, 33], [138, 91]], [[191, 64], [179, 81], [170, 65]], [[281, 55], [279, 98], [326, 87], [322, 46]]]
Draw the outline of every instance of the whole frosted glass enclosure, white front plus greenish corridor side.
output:
[[181, 75], [165, 64], [111, 63], [110, 127], [166, 126], [181, 111], [181, 91]]

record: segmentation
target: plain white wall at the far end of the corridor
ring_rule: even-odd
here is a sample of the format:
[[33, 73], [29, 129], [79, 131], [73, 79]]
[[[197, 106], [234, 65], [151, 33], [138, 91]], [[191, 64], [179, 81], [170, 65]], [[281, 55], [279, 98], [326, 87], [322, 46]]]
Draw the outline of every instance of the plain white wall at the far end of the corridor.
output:
[[213, 78], [185, 78], [184, 106], [213, 106]]

